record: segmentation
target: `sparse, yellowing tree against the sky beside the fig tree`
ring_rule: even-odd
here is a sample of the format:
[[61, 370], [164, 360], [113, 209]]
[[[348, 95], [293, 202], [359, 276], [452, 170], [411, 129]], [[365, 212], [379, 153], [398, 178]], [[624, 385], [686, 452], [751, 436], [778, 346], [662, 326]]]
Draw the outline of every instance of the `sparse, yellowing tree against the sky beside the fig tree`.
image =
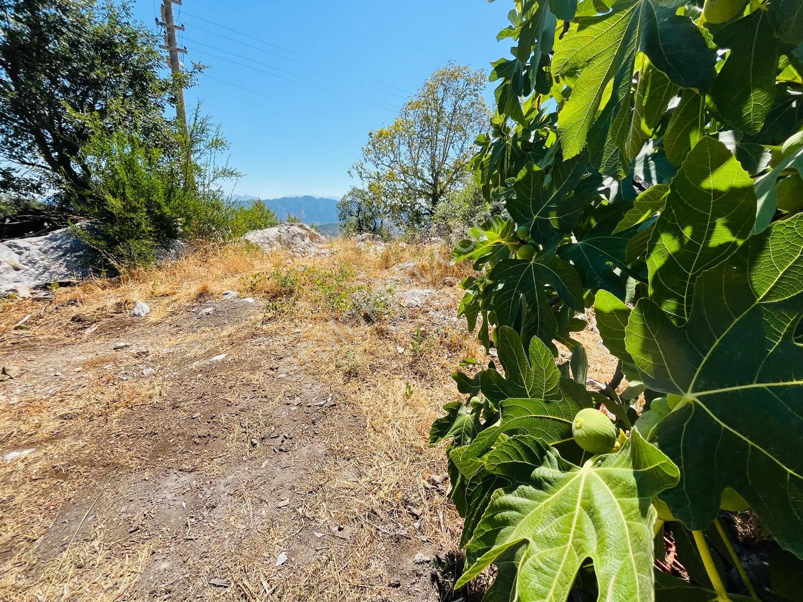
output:
[[369, 132], [353, 173], [399, 225], [418, 227], [467, 175], [479, 132], [490, 117], [482, 71], [450, 63], [438, 69], [393, 124]]

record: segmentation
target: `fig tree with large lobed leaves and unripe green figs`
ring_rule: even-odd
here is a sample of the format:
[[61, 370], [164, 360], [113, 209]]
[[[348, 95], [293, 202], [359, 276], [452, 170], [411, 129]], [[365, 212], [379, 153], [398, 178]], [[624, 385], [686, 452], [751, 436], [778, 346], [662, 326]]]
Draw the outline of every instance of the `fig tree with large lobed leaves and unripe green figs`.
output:
[[[505, 211], [453, 254], [495, 353], [430, 433], [455, 588], [495, 564], [487, 601], [797, 600], [803, 2], [513, 5], [471, 164]], [[590, 307], [606, 383], [574, 337]]]

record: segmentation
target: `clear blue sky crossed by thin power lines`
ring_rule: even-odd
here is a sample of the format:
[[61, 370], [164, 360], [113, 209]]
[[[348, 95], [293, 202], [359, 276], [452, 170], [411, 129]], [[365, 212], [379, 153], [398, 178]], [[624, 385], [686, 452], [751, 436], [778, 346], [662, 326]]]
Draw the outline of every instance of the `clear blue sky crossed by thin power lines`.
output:
[[[137, 0], [135, 14], [152, 25], [160, 4]], [[507, 55], [509, 40], [495, 38], [511, 8], [505, 0], [184, 0], [174, 10], [186, 26], [185, 61], [209, 66], [187, 104], [202, 100], [222, 124], [230, 162], [247, 174], [237, 192], [337, 196], [356, 183], [348, 171], [369, 130], [392, 122], [428, 75], [450, 60], [487, 70]]]

